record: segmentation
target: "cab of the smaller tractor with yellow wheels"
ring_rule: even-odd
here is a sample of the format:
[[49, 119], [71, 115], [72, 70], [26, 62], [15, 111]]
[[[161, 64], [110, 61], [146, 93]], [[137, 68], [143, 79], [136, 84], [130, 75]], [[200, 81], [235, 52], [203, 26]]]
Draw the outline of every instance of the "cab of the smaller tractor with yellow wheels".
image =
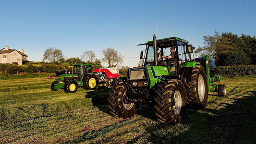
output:
[[78, 80], [83, 79], [84, 74], [92, 73], [91, 64], [88, 63], [78, 63], [74, 64], [74, 73], [78, 74]]

